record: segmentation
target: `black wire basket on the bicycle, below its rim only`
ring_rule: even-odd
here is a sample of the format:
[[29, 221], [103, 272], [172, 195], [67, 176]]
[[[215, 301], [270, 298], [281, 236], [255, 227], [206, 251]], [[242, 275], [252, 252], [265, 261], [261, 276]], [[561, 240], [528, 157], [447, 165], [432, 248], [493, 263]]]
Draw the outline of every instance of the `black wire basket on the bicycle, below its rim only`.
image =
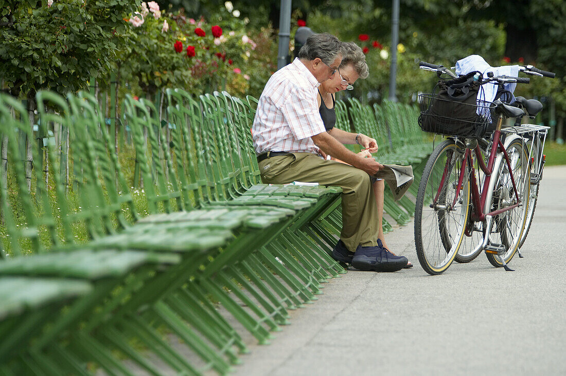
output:
[[495, 105], [475, 97], [470, 99], [463, 102], [441, 98], [438, 93], [419, 94], [419, 126], [439, 135], [484, 137], [494, 130], [491, 115]]

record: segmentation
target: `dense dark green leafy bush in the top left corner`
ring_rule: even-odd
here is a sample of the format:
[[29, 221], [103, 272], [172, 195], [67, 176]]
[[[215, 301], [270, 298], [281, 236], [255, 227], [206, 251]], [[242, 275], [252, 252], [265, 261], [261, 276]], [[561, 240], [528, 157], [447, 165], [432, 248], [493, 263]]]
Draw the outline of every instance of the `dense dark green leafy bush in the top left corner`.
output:
[[0, 0], [0, 77], [16, 96], [108, 76], [135, 0]]

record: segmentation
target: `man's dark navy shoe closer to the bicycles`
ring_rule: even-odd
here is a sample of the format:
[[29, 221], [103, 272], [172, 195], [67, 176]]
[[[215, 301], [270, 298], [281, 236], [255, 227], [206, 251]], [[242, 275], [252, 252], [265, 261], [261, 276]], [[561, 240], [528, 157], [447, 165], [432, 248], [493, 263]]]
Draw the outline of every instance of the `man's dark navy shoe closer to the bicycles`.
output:
[[358, 247], [352, 266], [359, 270], [397, 271], [407, 266], [405, 256], [394, 256], [383, 247]]

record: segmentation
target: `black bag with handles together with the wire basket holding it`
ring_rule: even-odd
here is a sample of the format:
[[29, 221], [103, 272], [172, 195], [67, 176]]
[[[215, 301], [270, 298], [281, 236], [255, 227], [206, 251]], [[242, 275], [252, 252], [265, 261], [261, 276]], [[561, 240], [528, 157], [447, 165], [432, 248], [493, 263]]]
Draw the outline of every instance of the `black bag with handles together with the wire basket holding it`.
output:
[[421, 95], [419, 124], [423, 131], [477, 137], [486, 133], [487, 125], [491, 123], [490, 104], [478, 101], [481, 75], [474, 80], [475, 74], [479, 72], [439, 81], [436, 93]]

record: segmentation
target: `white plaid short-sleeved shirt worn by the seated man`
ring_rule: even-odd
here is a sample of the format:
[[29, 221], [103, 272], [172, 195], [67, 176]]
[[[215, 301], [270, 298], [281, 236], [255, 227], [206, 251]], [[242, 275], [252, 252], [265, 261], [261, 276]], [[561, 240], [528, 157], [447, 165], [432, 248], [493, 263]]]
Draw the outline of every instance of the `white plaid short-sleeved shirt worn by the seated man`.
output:
[[326, 130], [316, 103], [319, 85], [298, 58], [271, 76], [259, 98], [252, 126], [256, 153], [319, 153], [311, 140], [311, 136]]

